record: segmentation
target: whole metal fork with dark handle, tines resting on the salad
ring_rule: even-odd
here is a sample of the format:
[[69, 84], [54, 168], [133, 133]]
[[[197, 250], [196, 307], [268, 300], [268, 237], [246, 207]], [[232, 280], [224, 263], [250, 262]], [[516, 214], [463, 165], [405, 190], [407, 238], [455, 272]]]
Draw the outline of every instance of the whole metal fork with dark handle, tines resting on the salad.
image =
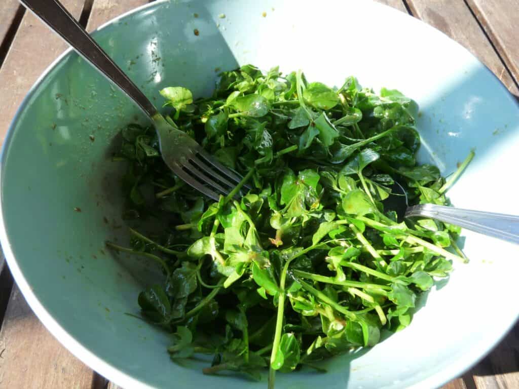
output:
[[162, 159], [179, 178], [216, 201], [220, 194], [228, 195], [241, 182], [240, 175], [216, 161], [193, 138], [166, 121], [58, 0], [20, 0], [20, 3], [114, 82], [153, 121]]

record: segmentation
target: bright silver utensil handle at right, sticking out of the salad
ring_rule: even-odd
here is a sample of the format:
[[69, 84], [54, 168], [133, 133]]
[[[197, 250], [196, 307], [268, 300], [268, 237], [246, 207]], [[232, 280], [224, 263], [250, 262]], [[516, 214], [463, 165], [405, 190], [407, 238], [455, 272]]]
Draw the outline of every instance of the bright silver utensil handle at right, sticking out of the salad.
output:
[[412, 216], [430, 217], [489, 237], [519, 244], [519, 216], [463, 210], [436, 204], [408, 207], [405, 217]]

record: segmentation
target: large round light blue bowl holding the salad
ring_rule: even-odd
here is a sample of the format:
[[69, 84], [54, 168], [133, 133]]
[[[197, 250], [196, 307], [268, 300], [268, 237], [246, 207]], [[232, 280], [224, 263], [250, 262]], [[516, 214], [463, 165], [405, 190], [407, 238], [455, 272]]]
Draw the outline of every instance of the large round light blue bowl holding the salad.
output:
[[[108, 23], [95, 38], [157, 105], [160, 88], [208, 95], [217, 68], [245, 63], [302, 68], [330, 85], [356, 75], [365, 86], [400, 89], [421, 107], [421, 162], [448, 174], [476, 150], [450, 191], [453, 203], [519, 214], [515, 101], [465, 49], [403, 13], [364, 1], [161, 1]], [[149, 263], [103, 249], [106, 239], [125, 236], [120, 166], [110, 151], [134, 120], [146, 122], [74, 52], [36, 83], [2, 153], [0, 235], [12, 273], [52, 334], [126, 388], [264, 388], [265, 380], [208, 377], [199, 366], [171, 363], [168, 335], [125, 315], [138, 311], [139, 291], [159, 276]], [[327, 374], [279, 374], [277, 387], [431, 388], [474, 364], [519, 314], [519, 258], [517, 246], [472, 233], [464, 239], [470, 264], [431, 291], [409, 328], [335, 358]]]

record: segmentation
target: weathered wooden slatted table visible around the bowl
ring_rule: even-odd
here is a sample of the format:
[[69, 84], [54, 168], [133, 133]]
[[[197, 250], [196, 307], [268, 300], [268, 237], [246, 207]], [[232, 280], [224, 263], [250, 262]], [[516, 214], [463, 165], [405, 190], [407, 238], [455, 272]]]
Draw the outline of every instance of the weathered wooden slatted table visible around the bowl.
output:
[[[519, 96], [519, 0], [379, 0], [468, 48]], [[62, 0], [91, 31], [147, 0]], [[0, 0], [0, 142], [23, 96], [66, 44], [16, 0]], [[23, 72], [20, 71], [23, 69]], [[0, 258], [0, 387], [101, 389], [116, 386], [50, 335], [13, 285]], [[448, 389], [519, 389], [519, 324]], [[130, 388], [126, 388], [130, 389]]]

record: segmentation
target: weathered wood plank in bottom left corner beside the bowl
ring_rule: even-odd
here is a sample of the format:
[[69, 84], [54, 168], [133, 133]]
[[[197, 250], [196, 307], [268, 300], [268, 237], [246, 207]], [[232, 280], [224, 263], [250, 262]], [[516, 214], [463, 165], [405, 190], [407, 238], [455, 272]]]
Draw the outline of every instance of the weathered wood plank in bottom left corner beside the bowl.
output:
[[90, 389], [93, 372], [40, 323], [14, 286], [0, 331], [0, 387]]

